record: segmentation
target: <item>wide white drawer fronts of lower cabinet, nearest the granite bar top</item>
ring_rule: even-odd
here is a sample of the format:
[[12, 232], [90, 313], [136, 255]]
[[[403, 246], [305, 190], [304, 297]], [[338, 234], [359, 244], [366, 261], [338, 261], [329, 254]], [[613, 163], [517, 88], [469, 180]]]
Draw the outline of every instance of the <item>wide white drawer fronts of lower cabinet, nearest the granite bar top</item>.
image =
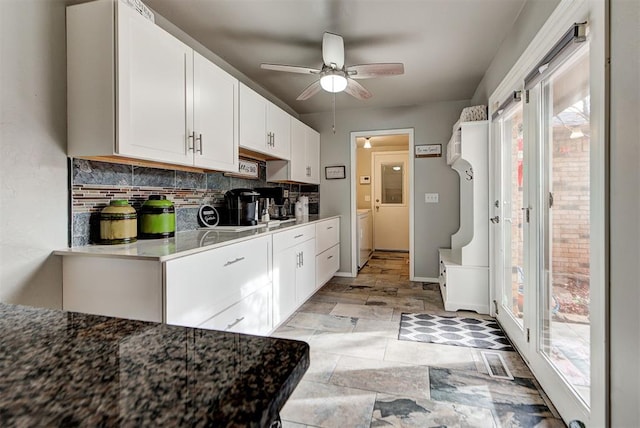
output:
[[[166, 262], [166, 322], [268, 333], [272, 327], [270, 246], [271, 237], [263, 236]], [[253, 307], [250, 302], [260, 304]], [[226, 323], [228, 317], [221, 315], [226, 310], [238, 323]]]

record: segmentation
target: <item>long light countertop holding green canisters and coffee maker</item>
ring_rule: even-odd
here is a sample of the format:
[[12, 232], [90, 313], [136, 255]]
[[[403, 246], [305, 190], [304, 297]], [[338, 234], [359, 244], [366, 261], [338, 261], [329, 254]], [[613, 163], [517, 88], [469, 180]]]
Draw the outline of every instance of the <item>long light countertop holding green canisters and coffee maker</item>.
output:
[[217, 247], [246, 241], [258, 236], [281, 232], [286, 229], [313, 224], [319, 221], [338, 218], [340, 216], [319, 217], [317, 215], [296, 219], [294, 222], [279, 226], [250, 229], [242, 232], [231, 232], [211, 229], [176, 232], [175, 237], [165, 239], [139, 239], [131, 244], [119, 245], [86, 245], [54, 251], [58, 256], [97, 256], [135, 258], [165, 262], [178, 257], [211, 250]]

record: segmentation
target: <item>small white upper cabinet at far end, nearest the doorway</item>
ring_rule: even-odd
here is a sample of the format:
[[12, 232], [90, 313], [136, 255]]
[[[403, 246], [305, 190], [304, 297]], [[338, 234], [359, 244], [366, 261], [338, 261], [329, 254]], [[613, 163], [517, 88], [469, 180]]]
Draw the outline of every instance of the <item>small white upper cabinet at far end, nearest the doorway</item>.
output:
[[320, 134], [291, 118], [291, 160], [267, 161], [267, 180], [320, 184]]

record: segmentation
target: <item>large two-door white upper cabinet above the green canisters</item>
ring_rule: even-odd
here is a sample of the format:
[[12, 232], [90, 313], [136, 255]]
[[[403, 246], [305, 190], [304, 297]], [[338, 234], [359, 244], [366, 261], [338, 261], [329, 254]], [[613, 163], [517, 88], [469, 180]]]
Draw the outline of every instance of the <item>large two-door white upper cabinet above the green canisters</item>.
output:
[[237, 80], [121, 1], [67, 8], [68, 154], [237, 171]]

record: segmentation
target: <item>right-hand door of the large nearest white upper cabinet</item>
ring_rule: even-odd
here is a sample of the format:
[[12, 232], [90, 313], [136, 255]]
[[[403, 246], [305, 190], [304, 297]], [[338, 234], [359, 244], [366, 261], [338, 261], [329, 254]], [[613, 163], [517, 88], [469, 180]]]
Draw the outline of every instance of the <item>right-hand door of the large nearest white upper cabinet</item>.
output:
[[202, 55], [193, 54], [194, 164], [238, 171], [238, 81]]

